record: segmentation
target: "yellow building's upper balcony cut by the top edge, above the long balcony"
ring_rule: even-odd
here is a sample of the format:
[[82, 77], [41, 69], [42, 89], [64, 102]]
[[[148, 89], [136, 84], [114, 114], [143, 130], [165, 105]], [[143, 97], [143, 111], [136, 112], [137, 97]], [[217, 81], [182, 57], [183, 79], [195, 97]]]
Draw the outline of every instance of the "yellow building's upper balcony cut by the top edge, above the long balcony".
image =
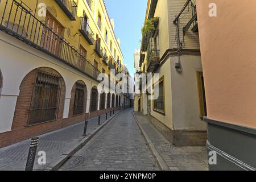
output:
[[72, 21], [76, 20], [77, 5], [74, 0], [55, 0], [68, 18]]

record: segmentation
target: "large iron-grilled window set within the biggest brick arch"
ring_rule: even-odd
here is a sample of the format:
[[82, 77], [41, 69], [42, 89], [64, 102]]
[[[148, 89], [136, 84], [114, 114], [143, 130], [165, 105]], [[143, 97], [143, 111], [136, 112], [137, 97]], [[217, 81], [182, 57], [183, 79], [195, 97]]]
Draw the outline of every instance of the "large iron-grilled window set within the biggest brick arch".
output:
[[62, 78], [52, 73], [38, 71], [33, 86], [28, 125], [57, 119]]

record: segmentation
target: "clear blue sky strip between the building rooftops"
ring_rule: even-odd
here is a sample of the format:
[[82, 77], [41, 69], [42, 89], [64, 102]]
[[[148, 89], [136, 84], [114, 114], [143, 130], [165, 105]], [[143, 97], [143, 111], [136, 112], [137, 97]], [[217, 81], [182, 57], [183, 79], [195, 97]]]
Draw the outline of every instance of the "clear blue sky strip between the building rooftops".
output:
[[147, 9], [147, 0], [105, 0], [109, 18], [114, 19], [114, 32], [121, 40], [121, 50], [131, 76], [135, 72], [133, 53], [141, 48], [141, 28]]

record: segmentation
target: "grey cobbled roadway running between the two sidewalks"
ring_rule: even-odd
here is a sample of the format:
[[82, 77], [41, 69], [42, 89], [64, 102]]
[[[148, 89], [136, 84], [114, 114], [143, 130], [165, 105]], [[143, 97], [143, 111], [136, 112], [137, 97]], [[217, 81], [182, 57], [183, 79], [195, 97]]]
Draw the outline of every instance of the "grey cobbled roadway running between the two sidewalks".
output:
[[159, 170], [133, 117], [121, 111], [60, 170]]

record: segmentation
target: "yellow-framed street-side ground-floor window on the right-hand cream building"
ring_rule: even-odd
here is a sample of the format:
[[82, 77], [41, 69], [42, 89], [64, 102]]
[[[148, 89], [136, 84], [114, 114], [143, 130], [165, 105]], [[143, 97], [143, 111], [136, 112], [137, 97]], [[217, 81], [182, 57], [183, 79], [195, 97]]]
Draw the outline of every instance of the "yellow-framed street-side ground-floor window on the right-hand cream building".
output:
[[158, 90], [159, 90], [159, 96], [156, 100], [154, 100], [154, 110], [164, 114], [165, 113], [165, 109], [164, 109], [164, 79], [163, 77], [160, 78], [158, 84], [155, 84], [153, 87], [156, 88], [156, 86], [158, 86]]

